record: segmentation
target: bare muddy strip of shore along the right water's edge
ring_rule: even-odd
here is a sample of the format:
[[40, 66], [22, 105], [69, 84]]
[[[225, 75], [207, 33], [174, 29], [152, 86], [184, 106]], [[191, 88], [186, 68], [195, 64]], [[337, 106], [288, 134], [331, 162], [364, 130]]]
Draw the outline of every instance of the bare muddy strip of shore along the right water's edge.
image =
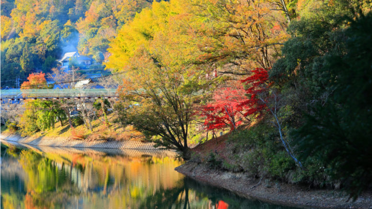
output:
[[176, 171], [193, 179], [228, 189], [247, 198], [279, 205], [300, 208], [330, 209], [372, 209], [371, 191], [362, 194], [355, 202], [332, 190], [314, 190], [305, 186], [270, 182], [266, 179], [251, 179], [244, 173], [211, 170], [204, 164], [187, 162], [175, 168]]

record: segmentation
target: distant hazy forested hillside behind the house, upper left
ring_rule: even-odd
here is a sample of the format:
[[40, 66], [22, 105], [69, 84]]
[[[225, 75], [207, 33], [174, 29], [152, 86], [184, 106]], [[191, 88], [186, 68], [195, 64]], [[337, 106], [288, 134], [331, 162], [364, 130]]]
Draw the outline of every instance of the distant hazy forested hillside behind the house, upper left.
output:
[[63, 53], [108, 57], [109, 40], [152, 0], [1, 0], [1, 87], [49, 73]]

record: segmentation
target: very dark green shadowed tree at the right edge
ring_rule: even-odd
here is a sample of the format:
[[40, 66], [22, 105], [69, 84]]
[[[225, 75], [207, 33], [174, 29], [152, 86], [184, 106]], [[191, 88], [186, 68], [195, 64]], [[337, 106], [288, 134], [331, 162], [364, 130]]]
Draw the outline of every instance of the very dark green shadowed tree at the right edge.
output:
[[371, 23], [372, 12], [352, 21], [346, 53], [326, 58], [333, 92], [312, 108], [296, 135], [304, 156], [318, 156], [354, 200], [372, 183]]

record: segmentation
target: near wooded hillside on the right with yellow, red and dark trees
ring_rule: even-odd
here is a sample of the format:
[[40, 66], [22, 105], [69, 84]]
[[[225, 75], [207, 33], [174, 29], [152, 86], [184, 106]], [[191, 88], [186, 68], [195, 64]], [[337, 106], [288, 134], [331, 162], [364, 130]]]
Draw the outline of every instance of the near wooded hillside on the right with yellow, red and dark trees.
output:
[[[109, 44], [107, 66], [125, 72], [119, 121], [214, 168], [341, 186], [356, 198], [372, 182], [371, 8], [155, 2]], [[219, 132], [233, 133], [230, 155], [188, 153]]]

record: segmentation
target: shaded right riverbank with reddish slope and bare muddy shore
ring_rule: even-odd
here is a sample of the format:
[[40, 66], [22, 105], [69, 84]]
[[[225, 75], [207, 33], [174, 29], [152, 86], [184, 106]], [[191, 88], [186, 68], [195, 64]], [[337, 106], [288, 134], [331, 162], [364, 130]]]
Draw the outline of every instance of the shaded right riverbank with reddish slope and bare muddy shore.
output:
[[[191, 149], [190, 160], [175, 170], [192, 179], [273, 204], [303, 208], [372, 209], [371, 190], [360, 195], [355, 202], [347, 202], [349, 196], [334, 187], [320, 189], [311, 187], [306, 181], [294, 182], [290, 180], [289, 172], [287, 179], [270, 175], [270, 169], [273, 172], [282, 167], [252, 157], [252, 153], [260, 151], [258, 147], [249, 145], [249, 140], [260, 142], [259, 139], [249, 138], [257, 135], [252, 129], [241, 127], [237, 133], [224, 134], [196, 146]], [[260, 153], [261, 158], [263, 154]], [[269, 152], [266, 157], [275, 158], [275, 154]], [[253, 164], [249, 163], [252, 161]]]

